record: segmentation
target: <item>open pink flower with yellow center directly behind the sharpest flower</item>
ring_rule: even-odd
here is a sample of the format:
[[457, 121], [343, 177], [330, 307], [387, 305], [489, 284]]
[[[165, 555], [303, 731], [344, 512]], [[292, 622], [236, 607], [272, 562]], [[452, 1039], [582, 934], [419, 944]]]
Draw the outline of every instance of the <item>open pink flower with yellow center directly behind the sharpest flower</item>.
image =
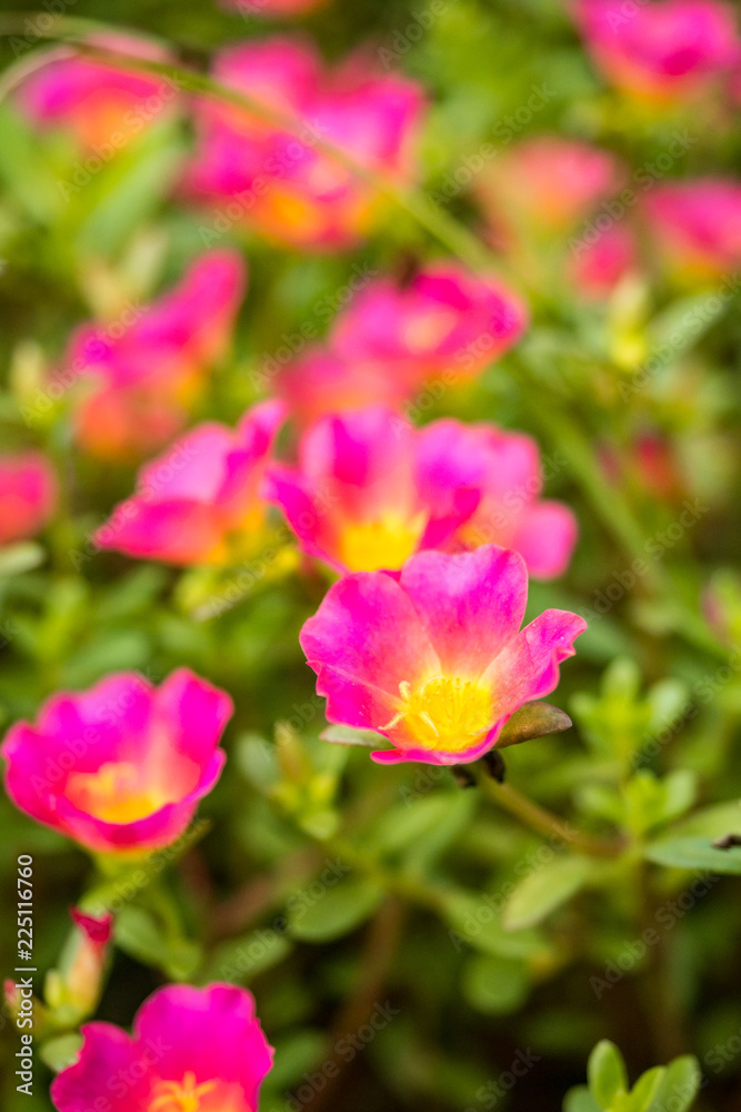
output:
[[475, 507], [478, 492], [451, 484], [444, 509], [420, 475], [421, 434], [372, 407], [326, 417], [302, 437], [299, 467], [274, 466], [270, 497], [302, 549], [339, 572], [399, 568], [440, 547]]

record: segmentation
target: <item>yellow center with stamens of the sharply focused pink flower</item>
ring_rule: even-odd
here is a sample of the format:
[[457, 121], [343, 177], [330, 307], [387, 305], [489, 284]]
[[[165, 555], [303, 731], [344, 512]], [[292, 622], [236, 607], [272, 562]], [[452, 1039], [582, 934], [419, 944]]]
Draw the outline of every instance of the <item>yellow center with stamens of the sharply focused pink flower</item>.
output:
[[409, 733], [424, 748], [461, 753], [492, 726], [491, 692], [473, 679], [433, 676], [414, 691], [403, 681], [399, 692], [404, 708], [381, 728], [391, 729], [404, 722]]

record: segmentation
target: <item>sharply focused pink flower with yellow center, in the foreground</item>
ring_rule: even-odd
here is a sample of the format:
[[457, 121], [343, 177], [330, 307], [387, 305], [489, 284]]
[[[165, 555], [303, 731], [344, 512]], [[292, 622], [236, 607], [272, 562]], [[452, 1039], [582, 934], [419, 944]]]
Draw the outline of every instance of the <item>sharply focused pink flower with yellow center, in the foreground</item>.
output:
[[555, 688], [587, 628], [545, 610], [520, 631], [527, 595], [524, 560], [495, 545], [340, 579], [300, 638], [328, 721], [383, 734], [393, 748], [372, 754], [381, 764], [478, 759], [519, 707]]

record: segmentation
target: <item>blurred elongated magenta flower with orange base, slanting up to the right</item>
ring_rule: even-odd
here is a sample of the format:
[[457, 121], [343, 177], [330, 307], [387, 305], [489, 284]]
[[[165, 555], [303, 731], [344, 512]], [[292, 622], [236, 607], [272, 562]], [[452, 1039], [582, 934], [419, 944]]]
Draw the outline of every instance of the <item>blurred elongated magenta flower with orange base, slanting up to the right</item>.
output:
[[244, 286], [237, 252], [209, 251], [149, 307], [76, 331], [66, 373], [89, 386], [74, 414], [84, 451], [136, 460], [180, 431], [206, 371], [229, 349]]

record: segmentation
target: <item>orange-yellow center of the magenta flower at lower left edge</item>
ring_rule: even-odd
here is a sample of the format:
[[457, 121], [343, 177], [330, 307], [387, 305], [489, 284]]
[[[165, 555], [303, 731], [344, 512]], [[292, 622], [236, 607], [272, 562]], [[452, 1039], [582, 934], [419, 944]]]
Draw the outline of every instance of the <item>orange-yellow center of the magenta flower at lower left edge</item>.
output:
[[73, 773], [67, 796], [76, 807], [106, 823], [133, 823], [169, 803], [156, 786], [141, 784], [141, 770], [128, 761], [109, 762], [98, 772]]

